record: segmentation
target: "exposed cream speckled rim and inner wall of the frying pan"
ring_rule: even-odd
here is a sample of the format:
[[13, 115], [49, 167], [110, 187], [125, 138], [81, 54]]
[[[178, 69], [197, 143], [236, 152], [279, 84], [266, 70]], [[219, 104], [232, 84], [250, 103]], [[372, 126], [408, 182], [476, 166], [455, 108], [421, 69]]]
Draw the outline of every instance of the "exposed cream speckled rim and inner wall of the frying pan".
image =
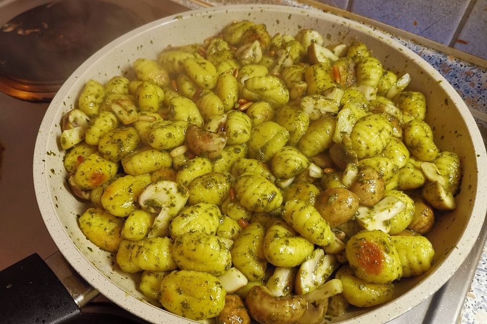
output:
[[[234, 20], [265, 23], [270, 34], [296, 34], [314, 28], [326, 39], [350, 44], [355, 38], [373, 50], [385, 67], [412, 82], [408, 89], [427, 97], [427, 122], [441, 150], [458, 153], [463, 163], [457, 210], [438, 217], [427, 235], [436, 251], [432, 269], [417, 278], [396, 284], [394, 300], [350, 314], [346, 323], [385, 323], [421, 303], [436, 292], [466, 258], [482, 227], [486, 211], [487, 159], [473, 117], [455, 90], [419, 56], [387, 35], [359, 23], [318, 11], [281, 6], [230, 6], [192, 11], [150, 23], [116, 39], [81, 65], [57, 93], [39, 130], [33, 160], [33, 178], [44, 222], [65, 259], [101, 294], [133, 314], [154, 323], [189, 323], [144, 299], [134, 276], [122, 273], [112, 256], [94, 246], [80, 231], [77, 214], [87, 206], [66, 187], [59, 146], [61, 116], [76, 107], [77, 97], [90, 78], [104, 83], [113, 75], [130, 77], [131, 64], [140, 57], [155, 59], [168, 45], [202, 42]], [[19, 129], [21, 131], [21, 129]]]

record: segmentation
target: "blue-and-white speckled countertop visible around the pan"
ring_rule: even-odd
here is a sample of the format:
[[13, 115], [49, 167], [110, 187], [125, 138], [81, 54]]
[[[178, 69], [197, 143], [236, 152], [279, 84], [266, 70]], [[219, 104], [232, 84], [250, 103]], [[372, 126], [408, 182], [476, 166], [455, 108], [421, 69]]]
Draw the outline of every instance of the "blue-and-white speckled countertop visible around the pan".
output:
[[[191, 9], [200, 9], [209, 6], [241, 5], [241, 4], [275, 4], [314, 9], [294, 0], [282, 1], [236, 1], [236, 0], [172, 0]], [[420, 55], [434, 68], [436, 68], [448, 82], [457, 90], [467, 106], [470, 108], [477, 123], [481, 127], [487, 127], [487, 68], [475, 65], [453, 55], [445, 54], [407, 38], [389, 33], [397, 41]], [[487, 133], [486, 133], [487, 134]], [[487, 245], [476, 268], [470, 290], [467, 293], [462, 307], [458, 324], [483, 324], [487, 323]]]

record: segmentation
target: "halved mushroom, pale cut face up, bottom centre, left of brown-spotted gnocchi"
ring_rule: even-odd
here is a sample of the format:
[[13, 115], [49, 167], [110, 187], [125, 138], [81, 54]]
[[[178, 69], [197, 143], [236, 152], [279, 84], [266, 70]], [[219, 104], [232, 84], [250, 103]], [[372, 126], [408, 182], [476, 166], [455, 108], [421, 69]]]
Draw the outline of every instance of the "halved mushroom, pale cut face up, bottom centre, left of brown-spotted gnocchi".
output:
[[296, 294], [304, 295], [323, 285], [338, 266], [336, 258], [316, 249], [299, 266], [294, 289]]

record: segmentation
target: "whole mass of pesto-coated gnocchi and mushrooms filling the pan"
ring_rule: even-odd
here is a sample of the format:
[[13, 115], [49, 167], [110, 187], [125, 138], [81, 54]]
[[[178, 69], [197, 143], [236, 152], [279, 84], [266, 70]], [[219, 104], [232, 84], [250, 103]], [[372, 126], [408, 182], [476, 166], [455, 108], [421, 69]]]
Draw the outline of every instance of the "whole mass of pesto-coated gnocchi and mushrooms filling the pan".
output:
[[81, 231], [152, 302], [321, 323], [430, 270], [424, 235], [456, 206], [462, 158], [437, 147], [410, 76], [365, 44], [240, 21], [132, 68], [88, 80], [60, 144], [91, 204]]

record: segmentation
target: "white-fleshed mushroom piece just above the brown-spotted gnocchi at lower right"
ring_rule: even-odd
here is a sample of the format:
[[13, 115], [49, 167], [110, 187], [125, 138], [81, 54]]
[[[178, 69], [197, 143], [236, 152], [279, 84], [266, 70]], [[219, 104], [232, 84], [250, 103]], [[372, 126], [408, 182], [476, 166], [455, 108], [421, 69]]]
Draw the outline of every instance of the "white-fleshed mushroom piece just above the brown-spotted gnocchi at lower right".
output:
[[357, 210], [356, 220], [366, 230], [379, 229], [389, 233], [390, 219], [406, 209], [406, 204], [398, 198], [387, 195], [372, 207], [360, 206]]

